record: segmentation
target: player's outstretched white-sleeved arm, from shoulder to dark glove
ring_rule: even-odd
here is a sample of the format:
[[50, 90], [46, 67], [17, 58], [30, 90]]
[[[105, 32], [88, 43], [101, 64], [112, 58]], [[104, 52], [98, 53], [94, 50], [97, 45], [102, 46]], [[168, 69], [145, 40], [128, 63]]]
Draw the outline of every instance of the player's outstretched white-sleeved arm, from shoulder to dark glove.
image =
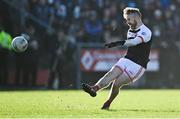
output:
[[151, 40], [151, 32], [141, 32], [134, 39], [126, 40], [124, 46], [130, 47], [141, 43], [146, 43]]

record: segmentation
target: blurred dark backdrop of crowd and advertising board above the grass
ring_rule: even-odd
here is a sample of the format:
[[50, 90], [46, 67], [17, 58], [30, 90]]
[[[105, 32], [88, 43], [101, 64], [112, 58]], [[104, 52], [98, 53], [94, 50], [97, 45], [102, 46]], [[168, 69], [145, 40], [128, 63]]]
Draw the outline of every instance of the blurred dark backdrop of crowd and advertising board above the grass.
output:
[[[126, 53], [122, 10], [138, 7], [153, 32], [145, 75], [125, 88], [180, 88], [180, 0], [0, 0], [0, 89], [80, 89]], [[28, 34], [23, 53], [13, 37]]]

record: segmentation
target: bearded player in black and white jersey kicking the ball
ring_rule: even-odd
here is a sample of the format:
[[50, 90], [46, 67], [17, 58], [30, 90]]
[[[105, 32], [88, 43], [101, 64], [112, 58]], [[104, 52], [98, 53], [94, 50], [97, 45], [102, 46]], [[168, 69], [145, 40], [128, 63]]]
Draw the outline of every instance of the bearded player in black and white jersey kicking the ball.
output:
[[105, 44], [111, 48], [115, 46], [127, 46], [127, 54], [107, 72], [94, 86], [83, 83], [82, 88], [92, 97], [96, 92], [107, 87], [113, 82], [108, 100], [101, 109], [109, 109], [110, 104], [119, 93], [119, 89], [139, 79], [147, 67], [151, 48], [151, 31], [141, 20], [141, 13], [137, 8], [126, 7], [123, 10], [129, 30], [127, 40]]

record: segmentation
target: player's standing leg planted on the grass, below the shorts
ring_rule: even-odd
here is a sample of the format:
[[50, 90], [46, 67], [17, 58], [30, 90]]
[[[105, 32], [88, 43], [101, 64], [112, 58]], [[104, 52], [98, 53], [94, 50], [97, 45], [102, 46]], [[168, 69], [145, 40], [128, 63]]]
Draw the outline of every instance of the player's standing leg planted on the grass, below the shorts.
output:
[[111, 90], [109, 93], [109, 97], [107, 101], [103, 104], [101, 109], [109, 109], [112, 101], [117, 97], [119, 94], [119, 90], [122, 86], [127, 85], [131, 82], [131, 80], [128, 78], [128, 76], [123, 73], [121, 76], [119, 76], [112, 84]]

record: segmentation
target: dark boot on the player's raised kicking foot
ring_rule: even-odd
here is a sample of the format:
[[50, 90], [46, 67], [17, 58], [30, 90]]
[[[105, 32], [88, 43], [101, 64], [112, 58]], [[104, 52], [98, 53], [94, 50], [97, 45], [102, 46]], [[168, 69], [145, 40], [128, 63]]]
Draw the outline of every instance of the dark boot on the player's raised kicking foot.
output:
[[90, 96], [95, 97], [96, 96], [96, 91], [88, 84], [82, 83], [81, 84], [82, 89], [87, 92]]

